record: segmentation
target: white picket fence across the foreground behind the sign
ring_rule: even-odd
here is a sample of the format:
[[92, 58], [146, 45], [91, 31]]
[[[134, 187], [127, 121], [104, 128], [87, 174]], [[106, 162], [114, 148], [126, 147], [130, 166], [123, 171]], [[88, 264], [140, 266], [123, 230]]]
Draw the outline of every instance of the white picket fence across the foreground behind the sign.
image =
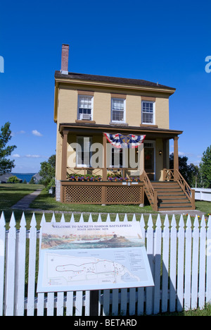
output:
[[[115, 289], [99, 291], [99, 314], [141, 315], [174, 312], [196, 307], [203, 308], [211, 301], [211, 216], [207, 223], [196, 216], [193, 226], [188, 216], [186, 224], [180, 217], [177, 226], [175, 216], [165, 216], [162, 227], [160, 215], [154, 230], [152, 216], [148, 223], [140, 221], [146, 237], [146, 250], [155, 282], [153, 288]], [[46, 221], [42, 216], [41, 224]], [[56, 221], [53, 215], [51, 221]], [[60, 221], [65, 221], [64, 215]], [[70, 221], [75, 221], [71, 216]], [[79, 221], [84, 221], [83, 214]], [[89, 221], [92, 221], [90, 214]], [[101, 220], [101, 214], [98, 216]], [[110, 221], [108, 214], [107, 221]], [[117, 214], [115, 221], [120, 221]], [[124, 221], [128, 221], [127, 214]], [[36, 293], [39, 259], [37, 221], [32, 216], [27, 231], [25, 215], [20, 230], [15, 228], [14, 214], [6, 231], [4, 213], [0, 218], [0, 316], [88, 316], [90, 291]], [[147, 230], [145, 228], [147, 227]], [[27, 264], [27, 267], [26, 267]], [[27, 268], [27, 269], [26, 269]]]

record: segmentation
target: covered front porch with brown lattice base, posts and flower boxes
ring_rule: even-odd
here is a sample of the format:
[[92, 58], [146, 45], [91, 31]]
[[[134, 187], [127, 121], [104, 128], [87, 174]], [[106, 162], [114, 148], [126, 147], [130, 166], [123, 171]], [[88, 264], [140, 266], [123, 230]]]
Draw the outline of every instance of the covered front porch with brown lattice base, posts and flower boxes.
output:
[[[110, 145], [105, 131], [113, 134], [121, 132], [124, 135], [141, 134], [146, 135], [146, 138], [138, 148], [131, 150], [132, 157], [129, 157], [128, 150], [124, 154], [124, 150], [122, 152], [119, 149], [117, 152]], [[178, 135], [181, 131], [72, 123], [60, 124], [59, 133], [62, 137], [62, 158], [59, 180], [57, 173], [59, 188], [56, 190], [60, 193], [60, 202], [143, 205], [146, 195], [153, 209], [158, 210], [158, 193], [153, 188], [153, 181], [178, 181]], [[81, 142], [82, 138], [84, 142]], [[167, 170], [170, 139], [174, 140], [174, 170], [171, 172], [174, 174], [171, 177], [170, 170]], [[77, 145], [82, 147], [81, 154], [77, 152]], [[97, 148], [91, 149], [91, 145]], [[90, 150], [98, 166], [92, 166], [89, 161]], [[116, 153], [119, 157], [117, 160]], [[129, 159], [132, 159], [132, 166]]]

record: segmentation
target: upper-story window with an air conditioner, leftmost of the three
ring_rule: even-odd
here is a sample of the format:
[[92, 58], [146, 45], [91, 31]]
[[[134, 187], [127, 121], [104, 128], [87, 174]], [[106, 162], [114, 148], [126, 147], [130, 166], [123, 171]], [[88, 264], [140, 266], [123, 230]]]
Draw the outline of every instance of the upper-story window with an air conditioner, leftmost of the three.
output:
[[78, 97], [78, 119], [91, 121], [93, 108], [93, 97], [89, 95], [79, 95]]

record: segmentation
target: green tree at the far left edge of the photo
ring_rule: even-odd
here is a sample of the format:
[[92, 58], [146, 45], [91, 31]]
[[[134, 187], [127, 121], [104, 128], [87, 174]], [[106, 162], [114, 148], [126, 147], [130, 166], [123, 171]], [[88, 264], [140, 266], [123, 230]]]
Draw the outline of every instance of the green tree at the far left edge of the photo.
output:
[[1, 126], [0, 131], [0, 175], [5, 173], [10, 173], [15, 167], [14, 160], [7, 159], [13, 150], [16, 148], [15, 145], [7, 146], [8, 142], [11, 140], [11, 123], [7, 122], [4, 126]]

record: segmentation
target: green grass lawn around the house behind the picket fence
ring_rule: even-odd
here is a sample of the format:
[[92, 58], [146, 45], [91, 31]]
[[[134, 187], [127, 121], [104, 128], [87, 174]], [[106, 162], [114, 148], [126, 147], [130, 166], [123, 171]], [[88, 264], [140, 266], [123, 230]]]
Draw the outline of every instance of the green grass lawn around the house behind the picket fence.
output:
[[[15, 184], [0, 184], [0, 214], [4, 211], [6, 223], [11, 219], [13, 204], [18, 202], [25, 195], [32, 193], [34, 190], [43, 189], [42, 185], [25, 185], [23, 183]], [[150, 205], [145, 207], [139, 207], [139, 205], [93, 205], [93, 204], [62, 204], [56, 202], [55, 198], [52, 198], [46, 190], [42, 190], [41, 194], [30, 204], [33, 209], [41, 209], [44, 211], [54, 211], [54, 212], [68, 212], [65, 214], [65, 220], [70, 221], [70, 216], [72, 212], [75, 212], [75, 220], [79, 221], [80, 213], [83, 212], [84, 220], [88, 221], [89, 214], [92, 213], [92, 218], [94, 221], [98, 219], [98, 213], [101, 213], [103, 221], [106, 221], [107, 213], [110, 214], [112, 221], [115, 221], [116, 214], [120, 216], [120, 221], [124, 219], [124, 214], [128, 216], [128, 220], [132, 220], [133, 214], [136, 214], [136, 219], [141, 219], [141, 214], [144, 214], [144, 219], [148, 221], [148, 215], [152, 214], [153, 222], [155, 224], [158, 212], [154, 212]], [[206, 214], [211, 214], [211, 202], [196, 202], [196, 209], [205, 212]], [[77, 213], [78, 212], [78, 213]], [[17, 225], [20, 223], [21, 216], [23, 212], [21, 210], [14, 210], [15, 219]], [[40, 212], [35, 212], [37, 224], [41, 221], [42, 214]], [[45, 214], [46, 221], [51, 221], [52, 214]], [[27, 228], [30, 228], [30, 221], [32, 219], [32, 212], [25, 212], [25, 217], [27, 221]], [[61, 214], [56, 213], [56, 221], [60, 221]], [[171, 219], [171, 216], [170, 216]], [[179, 224], [180, 216], [176, 216], [177, 224]], [[186, 220], [186, 216], [184, 216]], [[161, 215], [162, 224], [165, 221], [165, 216]], [[194, 217], [192, 217], [194, 221]]]

